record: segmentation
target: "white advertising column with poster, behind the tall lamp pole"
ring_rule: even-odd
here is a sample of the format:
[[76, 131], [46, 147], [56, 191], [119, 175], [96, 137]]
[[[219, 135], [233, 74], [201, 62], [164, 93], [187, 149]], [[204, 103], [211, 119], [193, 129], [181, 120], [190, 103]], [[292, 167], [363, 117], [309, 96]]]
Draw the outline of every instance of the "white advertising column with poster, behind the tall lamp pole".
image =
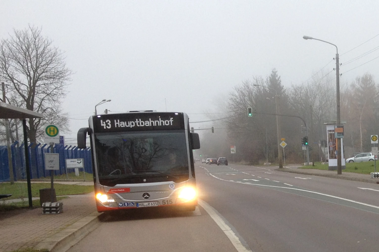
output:
[[[335, 138], [334, 132], [335, 124], [326, 125], [327, 141], [328, 141], [328, 157], [329, 157], [329, 169], [328, 170], [337, 170], [337, 139]], [[341, 165], [342, 169], [345, 169], [345, 157], [343, 155], [343, 138], [341, 139]]]

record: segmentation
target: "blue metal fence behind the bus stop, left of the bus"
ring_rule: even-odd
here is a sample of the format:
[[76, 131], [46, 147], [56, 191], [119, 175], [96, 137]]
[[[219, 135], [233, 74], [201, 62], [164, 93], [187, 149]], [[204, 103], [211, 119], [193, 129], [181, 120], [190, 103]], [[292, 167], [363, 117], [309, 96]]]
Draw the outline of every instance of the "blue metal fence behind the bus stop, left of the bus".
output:
[[[23, 144], [17, 147], [17, 144], [19, 143], [15, 142], [11, 145], [14, 181], [26, 179], [25, 147]], [[50, 176], [50, 173], [45, 171], [44, 153], [50, 153], [51, 147], [47, 144], [38, 144], [36, 147], [31, 148], [32, 145], [33, 144], [30, 144], [28, 146], [29, 160], [27, 161], [30, 164], [31, 179]], [[55, 175], [66, 174], [65, 159], [67, 158], [83, 158], [85, 171], [92, 173], [91, 150], [89, 148], [79, 149], [71, 145], [66, 145], [65, 147], [56, 145], [53, 153], [59, 153], [59, 170], [54, 171]], [[70, 172], [74, 172], [74, 169], [67, 169], [67, 173]], [[8, 148], [6, 146], [0, 146], [0, 182], [5, 181], [9, 181]]]

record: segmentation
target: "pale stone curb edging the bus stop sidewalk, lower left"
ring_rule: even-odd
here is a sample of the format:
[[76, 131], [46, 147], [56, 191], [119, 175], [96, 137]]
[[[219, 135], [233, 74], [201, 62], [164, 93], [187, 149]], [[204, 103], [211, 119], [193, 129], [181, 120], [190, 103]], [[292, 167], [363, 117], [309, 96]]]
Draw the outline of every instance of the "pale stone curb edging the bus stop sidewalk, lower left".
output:
[[97, 211], [85, 216], [74, 224], [38, 243], [34, 249], [48, 249], [50, 252], [66, 252], [88, 233], [99, 226], [105, 215]]

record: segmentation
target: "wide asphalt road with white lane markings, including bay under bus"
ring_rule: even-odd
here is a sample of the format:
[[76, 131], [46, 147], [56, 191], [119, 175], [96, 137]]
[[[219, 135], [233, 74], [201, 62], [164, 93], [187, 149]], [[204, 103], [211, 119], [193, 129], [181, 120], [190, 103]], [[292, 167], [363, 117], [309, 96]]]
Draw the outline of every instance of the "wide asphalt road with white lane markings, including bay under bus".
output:
[[121, 212], [69, 251], [379, 251], [379, 186], [274, 168], [197, 163], [195, 212]]

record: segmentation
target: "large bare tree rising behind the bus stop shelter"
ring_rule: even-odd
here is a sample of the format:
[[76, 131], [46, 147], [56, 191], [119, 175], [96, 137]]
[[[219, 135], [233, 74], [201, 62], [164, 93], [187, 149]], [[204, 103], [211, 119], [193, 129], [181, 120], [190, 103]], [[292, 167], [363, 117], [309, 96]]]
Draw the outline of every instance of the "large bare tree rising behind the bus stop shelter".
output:
[[13, 36], [1, 40], [0, 78], [11, 85], [21, 105], [45, 116], [29, 119], [27, 132], [31, 142], [36, 143], [47, 122], [67, 130], [68, 119], [62, 112], [61, 100], [66, 97], [71, 74], [63, 52], [43, 37], [38, 27], [14, 29]]

